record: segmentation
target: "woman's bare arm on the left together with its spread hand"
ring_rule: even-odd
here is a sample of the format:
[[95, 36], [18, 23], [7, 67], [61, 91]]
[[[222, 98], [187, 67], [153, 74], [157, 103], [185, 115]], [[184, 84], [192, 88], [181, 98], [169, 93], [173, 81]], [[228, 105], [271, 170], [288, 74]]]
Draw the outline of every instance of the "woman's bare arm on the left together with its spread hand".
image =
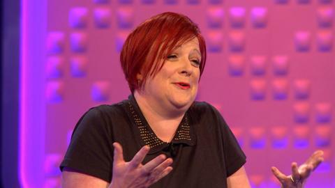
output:
[[158, 155], [147, 164], [142, 164], [144, 157], [149, 152], [149, 146], [142, 147], [130, 162], [124, 161], [122, 146], [119, 143], [113, 143], [113, 146], [113, 181], [111, 183], [95, 178], [94, 176], [81, 173], [80, 171], [64, 168], [61, 181], [62, 187], [149, 187], [172, 171], [172, 167], [170, 165], [173, 160], [170, 158], [167, 159], [165, 155]]

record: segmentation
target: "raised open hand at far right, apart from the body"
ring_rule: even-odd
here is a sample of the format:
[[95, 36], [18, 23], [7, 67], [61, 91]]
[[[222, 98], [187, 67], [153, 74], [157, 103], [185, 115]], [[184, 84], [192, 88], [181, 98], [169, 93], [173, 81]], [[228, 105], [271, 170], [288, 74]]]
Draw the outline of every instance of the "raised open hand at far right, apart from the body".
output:
[[304, 164], [299, 167], [296, 162], [292, 162], [292, 175], [285, 175], [281, 173], [276, 167], [272, 166], [271, 171], [276, 178], [281, 182], [284, 188], [300, 188], [304, 186], [309, 175], [314, 171], [323, 161], [323, 152], [321, 150], [315, 151]]

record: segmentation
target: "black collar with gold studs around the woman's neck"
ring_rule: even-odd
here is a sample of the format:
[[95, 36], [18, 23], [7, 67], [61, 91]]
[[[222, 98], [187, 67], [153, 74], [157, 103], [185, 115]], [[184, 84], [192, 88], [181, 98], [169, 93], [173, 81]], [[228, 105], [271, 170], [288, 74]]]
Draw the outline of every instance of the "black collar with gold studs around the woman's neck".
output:
[[156, 136], [154, 131], [147, 123], [147, 120], [144, 118], [140, 107], [135, 100], [133, 95], [129, 95], [128, 100], [124, 102], [126, 111], [129, 118], [131, 119], [133, 125], [135, 126], [135, 135], [140, 141], [141, 146], [150, 146], [149, 154], [164, 150], [167, 147], [170, 147], [173, 144], [186, 144], [188, 146], [195, 145], [195, 134], [194, 127], [191, 125], [191, 118], [189, 116], [189, 110], [186, 111], [184, 117], [179, 124], [176, 134], [170, 143], [162, 141]]

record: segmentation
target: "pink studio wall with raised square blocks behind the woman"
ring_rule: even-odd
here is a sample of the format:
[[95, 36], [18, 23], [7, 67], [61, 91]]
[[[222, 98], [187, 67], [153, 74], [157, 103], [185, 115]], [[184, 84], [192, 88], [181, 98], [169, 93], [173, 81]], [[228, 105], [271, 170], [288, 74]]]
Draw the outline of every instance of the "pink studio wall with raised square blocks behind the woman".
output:
[[335, 187], [334, 5], [332, 0], [48, 1], [43, 185], [59, 187], [58, 165], [80, 116], [128, 97], [119, 65], [127, 34], [144, 19], [172, 11], [191, 17], [207, 41], [198, 100], [214, 104], [239, 139], [253, 186], [278, 187], [270, 166], [290, 173], [290, 162], [301, 163], [322, 149], [325, 162], [306, 187]]

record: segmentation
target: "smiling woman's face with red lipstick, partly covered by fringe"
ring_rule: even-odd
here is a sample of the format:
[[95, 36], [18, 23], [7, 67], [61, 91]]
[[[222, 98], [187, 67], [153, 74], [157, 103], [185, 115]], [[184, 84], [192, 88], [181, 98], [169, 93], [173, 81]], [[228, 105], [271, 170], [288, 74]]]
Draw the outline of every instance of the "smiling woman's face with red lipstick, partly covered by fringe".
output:
[[186, 111], [198, 92], [201, 54], [198, 38], [193, 38], [168, 55], [163, 68], [144, 84], [144, 93], [152, 105], [167, 110]]

